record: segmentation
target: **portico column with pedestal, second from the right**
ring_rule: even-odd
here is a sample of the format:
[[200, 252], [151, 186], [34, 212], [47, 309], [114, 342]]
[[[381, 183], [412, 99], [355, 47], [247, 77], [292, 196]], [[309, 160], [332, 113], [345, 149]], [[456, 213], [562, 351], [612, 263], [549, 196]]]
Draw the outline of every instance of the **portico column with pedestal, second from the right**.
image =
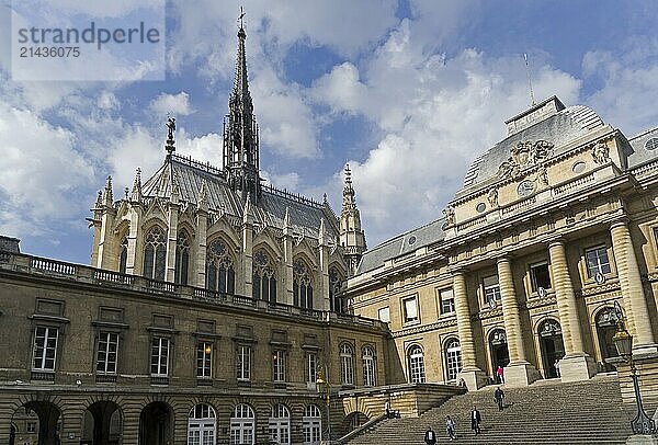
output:
[[559, 370], [563, 381], [587, 380], [597, 374], [597, 365], [582, 346], [582, 332], [578, 317], [578, 304], [569, 276], [565, 243], [555, 240], [548, 244], [555, 298], [559, 312], [566, 355]]

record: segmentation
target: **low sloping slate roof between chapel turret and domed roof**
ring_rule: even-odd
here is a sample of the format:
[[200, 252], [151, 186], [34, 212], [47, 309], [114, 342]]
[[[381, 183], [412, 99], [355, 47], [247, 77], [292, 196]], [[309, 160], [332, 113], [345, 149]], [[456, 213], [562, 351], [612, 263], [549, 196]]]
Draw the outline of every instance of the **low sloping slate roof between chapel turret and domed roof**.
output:
[[445, 219], [436, 219], [430, 224], [398, 235], [382, 244], [363, 253], [356, 274], [374, 271], [383, 266], [386, 260], [413, 252], [422, 247], [442, 241], [445, 238], [443, 225]]

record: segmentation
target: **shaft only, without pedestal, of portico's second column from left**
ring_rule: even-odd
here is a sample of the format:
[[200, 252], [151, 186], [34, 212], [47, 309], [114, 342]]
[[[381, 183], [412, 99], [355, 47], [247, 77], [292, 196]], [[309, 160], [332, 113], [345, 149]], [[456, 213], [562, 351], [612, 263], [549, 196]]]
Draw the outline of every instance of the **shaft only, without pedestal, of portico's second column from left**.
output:
[[517, 299], [514, 281], [512, 278], [512, 267], [509, 259], [498, 260], [498, 283], [502, 296], [502, 318], [504, 320], [510, 361], [512, 363], [525, 361], [519, 300]]

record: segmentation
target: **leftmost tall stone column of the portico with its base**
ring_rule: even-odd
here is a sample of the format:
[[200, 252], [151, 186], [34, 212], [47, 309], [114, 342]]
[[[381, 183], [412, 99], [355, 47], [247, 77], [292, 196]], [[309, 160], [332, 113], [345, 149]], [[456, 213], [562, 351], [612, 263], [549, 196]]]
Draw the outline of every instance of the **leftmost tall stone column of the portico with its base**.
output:
[[487, 376], [477, 367], [475, 341], [473, 340], [473, 328], [470, 326], [470, 308], [468, 306], [466, 278], [463, 271], [455, 271], [453, 273], [453, 292], [455, 295], [457, 332], [460, 334], [463, 365], [457, 378], [463, 378], [468, 389], [475, 390], [485, 386]]

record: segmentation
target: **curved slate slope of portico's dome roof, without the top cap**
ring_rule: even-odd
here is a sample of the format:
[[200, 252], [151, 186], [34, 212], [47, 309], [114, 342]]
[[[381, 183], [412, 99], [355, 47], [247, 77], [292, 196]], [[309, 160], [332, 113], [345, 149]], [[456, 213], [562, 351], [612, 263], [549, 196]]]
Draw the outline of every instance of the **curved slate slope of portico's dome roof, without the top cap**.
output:
[[605, 124], [599, 115], [585, 105], [568, 106], [536, 124], [514, 133], [476, 158], [464, 176], [464, 187], [481, 183], [498, 173], [500, 164], [508, 160], [511, 149], [520, 141], [547, 140], [555, 146], [553, 156], [565, 146]]

